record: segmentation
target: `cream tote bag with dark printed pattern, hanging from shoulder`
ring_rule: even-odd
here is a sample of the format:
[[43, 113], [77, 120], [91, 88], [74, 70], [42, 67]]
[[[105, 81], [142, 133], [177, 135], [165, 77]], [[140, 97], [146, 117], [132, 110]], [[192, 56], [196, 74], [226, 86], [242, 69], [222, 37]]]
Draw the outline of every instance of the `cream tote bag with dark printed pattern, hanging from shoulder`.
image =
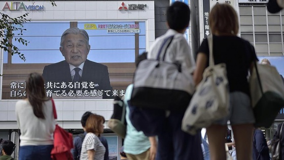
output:
[[183, 118], [183, 131], [195, 135], [198, 130], [229, 113], [229, 88], [225, 63], [214, 64], [213, 39], [207, 37], [209, 67], [203, 73]]

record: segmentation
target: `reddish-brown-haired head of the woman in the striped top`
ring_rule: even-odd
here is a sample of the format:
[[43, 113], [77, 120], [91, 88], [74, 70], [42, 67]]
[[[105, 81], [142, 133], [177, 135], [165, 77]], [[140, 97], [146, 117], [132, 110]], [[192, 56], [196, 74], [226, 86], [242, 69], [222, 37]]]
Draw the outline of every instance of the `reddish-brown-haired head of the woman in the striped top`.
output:
[[86, 121], [85, 130], [87, 133], [91, 132], [93, 134], [99, 135], [103, 133], [103, 116], [91, 114]]

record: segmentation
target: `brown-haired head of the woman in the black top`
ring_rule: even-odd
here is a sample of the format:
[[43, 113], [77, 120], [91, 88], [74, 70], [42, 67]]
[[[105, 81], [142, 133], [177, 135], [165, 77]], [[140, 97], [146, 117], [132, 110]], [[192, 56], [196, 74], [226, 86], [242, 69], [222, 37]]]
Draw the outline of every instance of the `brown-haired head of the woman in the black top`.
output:
[[209, 14], [209, 26], [213, 35], [236, 36], [239, 30], [236, 11], [228, 4], [216, 4]]

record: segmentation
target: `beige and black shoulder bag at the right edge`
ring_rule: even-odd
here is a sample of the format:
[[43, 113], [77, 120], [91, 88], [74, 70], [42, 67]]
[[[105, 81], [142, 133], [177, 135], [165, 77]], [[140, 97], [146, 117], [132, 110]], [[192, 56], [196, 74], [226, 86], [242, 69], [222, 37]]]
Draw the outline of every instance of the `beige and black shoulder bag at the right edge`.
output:
[[250, 89], [256, 127], [270, 127], [284, 106], [284, 83], [274, 66], [254, 62]]

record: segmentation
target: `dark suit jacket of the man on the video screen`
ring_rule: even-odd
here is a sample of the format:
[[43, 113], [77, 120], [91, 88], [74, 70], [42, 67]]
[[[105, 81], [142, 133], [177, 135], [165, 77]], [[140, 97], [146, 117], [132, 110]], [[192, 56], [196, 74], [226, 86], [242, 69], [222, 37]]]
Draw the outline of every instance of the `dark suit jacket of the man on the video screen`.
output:
[[[46, 86], [47, 86], [47, 82], [52, 82], [52, 84], [54, 82], [57, 82], [57, 83], [60, 83], [60, 85], [62, 82], [65, 82], [67, 85], [68, 85], [68, 82], [72, 82], [69, 64], [65, 60], [45, 66], [42, 76], [45, 80]], [[108, 94], [112, 95], [113, 88], [111, 87], [111, 83], [110, 83], [108, 67], [100, 63], [96, 63], [96, 62], [93, 62], [87, 59], [84, 63], [81, 82], [88, 82], [88, 86], [89, 86], [89, 82], [98, 84], [98, 86], [95, 86], [94, 88], [88, 87], [87, 90], [93, 90], [93, 89], [96, 89], [96, 90], [102, 89], [104, 91], [111, 90], [108, 92]], [[52, 90], [52, 89], [48, 88], [47, 90]], [[66, 90], [66, 92], [69, 91], [68, 87], [62, 90]], [[103, 91], [102, 98], [112, 99], [112, 97], [111, 96], [108, 97], [107, 92], [104, 92], [104, 91]]]

